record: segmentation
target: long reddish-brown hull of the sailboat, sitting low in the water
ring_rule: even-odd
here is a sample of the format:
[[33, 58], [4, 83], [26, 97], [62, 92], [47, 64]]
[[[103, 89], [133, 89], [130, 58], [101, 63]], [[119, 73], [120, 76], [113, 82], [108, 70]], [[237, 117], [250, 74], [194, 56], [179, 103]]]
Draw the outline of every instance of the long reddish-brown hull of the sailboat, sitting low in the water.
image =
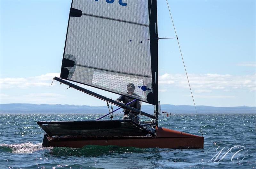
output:
[[204, 137], [180, 131], [156, 127], [156, 137], [49, 137], [44, 135], [44, 147], [83, 147], [85, 145], [116, 145], [138, 148], [173, 148], [200, 149], [204, 148]]

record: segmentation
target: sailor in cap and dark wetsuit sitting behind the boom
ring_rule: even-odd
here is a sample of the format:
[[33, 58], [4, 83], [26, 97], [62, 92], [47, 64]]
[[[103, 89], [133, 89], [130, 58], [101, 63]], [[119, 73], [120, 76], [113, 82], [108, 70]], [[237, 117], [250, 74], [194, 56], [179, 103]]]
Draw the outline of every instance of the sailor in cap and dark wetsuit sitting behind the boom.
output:
[[[140, 97], [139, 95], [134, 93], [134, 89], [135, 89], [134, 84], [133, 83], [128, 83], [128, 85], [127, 85], [127, 94]], [[123, 95], [120, 95], [120, 97], [118, 97], [118, 99], [116, 99], [117, 102], [123, 102], [124, 104], [129, 103], [133, 100], [134, 100], [134, 98], [128, 97], [128, 96], [123, 96]], [[140, 110], [140, 104], [141, 104], [140, 100], [136, 99], [136, 101], [130, 103], [129, 106]], [[133, 112], [129, 109], [124, 109], [124, 116], [123, 116], [122, 119], [123, 120], [132, 119], [132, 121], [134, 121], [135, 123], [139, 123], [140, 117], [139, 117], [138, 113]]]

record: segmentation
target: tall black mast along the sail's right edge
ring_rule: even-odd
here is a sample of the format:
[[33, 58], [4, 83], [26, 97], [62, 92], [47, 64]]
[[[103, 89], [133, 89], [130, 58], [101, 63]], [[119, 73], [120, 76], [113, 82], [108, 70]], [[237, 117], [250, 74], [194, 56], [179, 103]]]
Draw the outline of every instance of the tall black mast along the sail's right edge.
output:
[[149, 40], [151, 54], [151, 73], [153, 102], [156, 106], [156, 119], [158, 119], [158, 32], [157, 32], [157, 6], [156, 0], [148, 0], [148, 17], [149, 17]]

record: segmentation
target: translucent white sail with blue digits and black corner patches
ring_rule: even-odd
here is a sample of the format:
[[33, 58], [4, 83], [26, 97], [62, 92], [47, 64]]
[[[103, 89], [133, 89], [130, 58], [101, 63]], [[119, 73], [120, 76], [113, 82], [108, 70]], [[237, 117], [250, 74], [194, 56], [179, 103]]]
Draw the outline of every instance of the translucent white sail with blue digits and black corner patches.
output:
[[[73, 0], [60, 77], [157, 105], [157, 40], [148, 40], [157, 30], [151, 22], [154, 0]], [[127, 94], [128, 83], [137, 96]]]

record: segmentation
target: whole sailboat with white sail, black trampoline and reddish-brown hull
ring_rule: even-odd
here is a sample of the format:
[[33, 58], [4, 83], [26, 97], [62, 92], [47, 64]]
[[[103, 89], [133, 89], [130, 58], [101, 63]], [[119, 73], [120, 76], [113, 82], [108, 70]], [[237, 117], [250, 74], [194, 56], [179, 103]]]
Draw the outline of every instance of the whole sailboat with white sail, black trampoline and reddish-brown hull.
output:
[[[156, 0], [72, 0], [61, 73], [54, 80], [151, 120], [37, 122], [46, 132], [43, 146], [203, 148], [204, 137], [158, 126], [158, 39]], [[72, 82], [152, 104], [154, 115]], [[127, 93], [128, 83], [137, 95]]]

